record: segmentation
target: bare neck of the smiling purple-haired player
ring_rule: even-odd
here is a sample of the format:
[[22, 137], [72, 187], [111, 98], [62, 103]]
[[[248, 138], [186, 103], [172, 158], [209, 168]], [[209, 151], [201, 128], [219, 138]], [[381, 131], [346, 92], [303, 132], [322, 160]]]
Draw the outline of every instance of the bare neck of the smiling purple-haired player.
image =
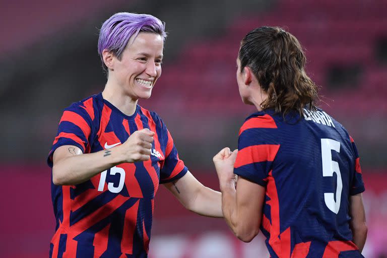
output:
[[137, 102], [139, 101], [128, 96], [123, 90], [123, 87], [114, 83], [114, 80], [110, 76], [105, 85], [105, 89], [102, 91], [102, 97], [125, 115], [133, 115], [136, 112]]

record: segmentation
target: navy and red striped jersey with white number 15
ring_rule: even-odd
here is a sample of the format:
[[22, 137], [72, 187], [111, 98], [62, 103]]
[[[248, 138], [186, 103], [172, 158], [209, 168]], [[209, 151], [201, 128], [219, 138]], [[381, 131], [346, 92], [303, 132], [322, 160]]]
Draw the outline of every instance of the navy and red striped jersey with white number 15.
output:
[[52, 167], [53, 152], [60, 146], [98, 152], [143, 128], [155, 132], [150, 160], [116, 165], [77, 185], [51, 183], [56, 232], [50, 257], [147, 257], [159, 184], [187, 172], [155, 112], [137, 105], [127, 116], [101, 93], [73, 103], [64, 109], [48, 164]]

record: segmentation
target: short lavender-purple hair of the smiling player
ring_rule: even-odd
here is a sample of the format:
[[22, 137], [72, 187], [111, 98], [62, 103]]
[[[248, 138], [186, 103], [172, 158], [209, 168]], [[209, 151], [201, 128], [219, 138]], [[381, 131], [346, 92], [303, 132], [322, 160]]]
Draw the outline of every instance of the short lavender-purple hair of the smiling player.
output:
[[102, 57], [104, 49], [109, 50], [119, 60], [129, 39], [140, 32], [159, 34], [165, 40], [165, 23], [148, 14], [117, 13], [107, 19], [101, 27], [98, 38], [98, 53], [102, 68], [108, 71]]

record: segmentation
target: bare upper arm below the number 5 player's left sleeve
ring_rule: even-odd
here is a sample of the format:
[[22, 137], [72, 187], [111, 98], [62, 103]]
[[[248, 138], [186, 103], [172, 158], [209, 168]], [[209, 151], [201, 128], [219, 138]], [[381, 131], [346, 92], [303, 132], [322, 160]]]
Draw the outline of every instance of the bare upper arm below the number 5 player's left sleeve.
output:
[[238, 220], [254, 229], [261, 225], [262, 209], [266, 188], [239, 176], [236, 185], [236, 205]]

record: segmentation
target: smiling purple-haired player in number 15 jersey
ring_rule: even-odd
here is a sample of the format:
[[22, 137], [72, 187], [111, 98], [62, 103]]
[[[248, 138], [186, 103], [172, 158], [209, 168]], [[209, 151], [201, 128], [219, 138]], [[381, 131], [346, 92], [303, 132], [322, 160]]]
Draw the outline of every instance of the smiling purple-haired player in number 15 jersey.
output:
[[138, 105], [160, 77], [164, 29], [132, 13], [102, 25], [106, 86], [64, 110], [48, 157], [56, 218], [50, 257], [147, 257], [160, 183], [185, 208], [223, 217], [221, 193], [192, 176], [165, 123]]

